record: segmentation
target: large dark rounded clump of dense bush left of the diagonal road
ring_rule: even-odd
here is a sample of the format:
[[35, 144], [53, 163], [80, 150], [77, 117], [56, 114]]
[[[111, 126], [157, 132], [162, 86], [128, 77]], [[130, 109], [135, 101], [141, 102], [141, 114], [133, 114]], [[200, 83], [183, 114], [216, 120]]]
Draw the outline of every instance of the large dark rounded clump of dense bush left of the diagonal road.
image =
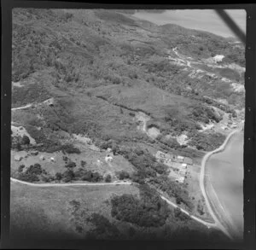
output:
[[158, 227], [165, 224], [170, 213], [166, 201], [146, 185], [143, 185], [140, 191], [141, 199], [126, 194], [113, 197], [112, 216], [143, 227]]

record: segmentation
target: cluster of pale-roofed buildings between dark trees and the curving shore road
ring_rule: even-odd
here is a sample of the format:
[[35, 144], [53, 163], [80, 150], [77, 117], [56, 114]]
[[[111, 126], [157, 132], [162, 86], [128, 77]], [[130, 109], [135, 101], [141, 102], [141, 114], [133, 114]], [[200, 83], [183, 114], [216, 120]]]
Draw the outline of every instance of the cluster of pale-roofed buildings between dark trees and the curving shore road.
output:
[[189, 157], [174, 154], [166, 154], [161, 151], [158, 151], [155, 154], [155, 158], [159, 160], [161, 163], [165, 164], [166, 166], [169, 166], [172, 169], [177, 170], [178, 174], [175, 180], [178, 183], [184, 182], [188, 166], [193, 165], [193, 160]]

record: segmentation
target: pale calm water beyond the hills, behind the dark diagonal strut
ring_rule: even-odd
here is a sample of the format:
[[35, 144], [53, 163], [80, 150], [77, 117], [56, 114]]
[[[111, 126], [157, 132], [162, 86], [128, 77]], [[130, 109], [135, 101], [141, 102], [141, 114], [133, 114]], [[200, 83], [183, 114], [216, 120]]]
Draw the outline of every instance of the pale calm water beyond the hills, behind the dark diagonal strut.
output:
[[[246, 11], [243, 9], [229, 9], [227, 13], [236, 21], [243, 32], [246, 32]], [[235, 37], [216, 12], [212, 9], [174, 9], [164, 13], [137, 12], [134, 16], [149, 20], [157, 25], [167, 23], [177, 24], [189, 29], [212, 32], [223, 37]]]

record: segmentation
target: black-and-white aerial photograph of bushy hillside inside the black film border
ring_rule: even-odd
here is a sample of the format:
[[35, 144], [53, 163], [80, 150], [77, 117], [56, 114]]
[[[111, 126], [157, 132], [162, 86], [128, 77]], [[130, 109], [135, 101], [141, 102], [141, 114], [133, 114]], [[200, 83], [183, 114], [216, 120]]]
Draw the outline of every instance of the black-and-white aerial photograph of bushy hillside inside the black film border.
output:
[[13, 9], [10, 237], [243, 241], [245, 70], [212, 9]]

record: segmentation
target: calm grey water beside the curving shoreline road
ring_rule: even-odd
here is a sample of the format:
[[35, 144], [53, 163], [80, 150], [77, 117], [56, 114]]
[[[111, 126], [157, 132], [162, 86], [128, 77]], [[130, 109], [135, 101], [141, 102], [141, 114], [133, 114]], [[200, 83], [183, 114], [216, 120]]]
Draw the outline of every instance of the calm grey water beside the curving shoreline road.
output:
[[237, 235], [243, 234], [243, 133], [236, 133], [222, 153], [207, 162], [212, 187]]

